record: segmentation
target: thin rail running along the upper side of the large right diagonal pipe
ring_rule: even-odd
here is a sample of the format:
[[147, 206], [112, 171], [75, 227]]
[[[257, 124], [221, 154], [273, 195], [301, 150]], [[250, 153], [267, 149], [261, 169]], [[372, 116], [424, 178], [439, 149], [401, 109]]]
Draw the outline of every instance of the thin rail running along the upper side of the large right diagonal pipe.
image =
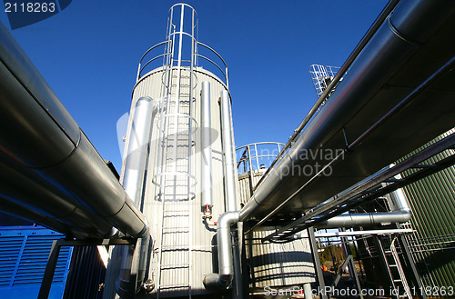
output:
[[339, 72], [335, 77], [333, 78], [332, 82], [330, 82], [329, 86], [324, 90], [322, 95], [319, 96], [319, 100], [313, 105], [311, 110], [308, 112], [308, 115], [305, 116], [303, 121], [298, 125], [298, 128], [294, 131], [294, 134], [289, 137], [288, 143], [283, 147], [281, 150], [281, 153], [278, 154], [277, 158], [275, 161], [273, 161], [272, 164], [268, 167], [268, 170], [260, 180], [258, 181], [258, 184], [253, 188], [253, 191], [258, 188], [258, 186], [264, 181], [266, 176], [270, 173], [271, 169], [278, 163], [278, 161], [281, 159], [281, 157], [286, 154], [286, 151], [288, 151], [289, 147], [294, 143], [294, 141], [297, 140], [298, 136], [302, 132], [303, 128], [308, 124], [308, 122], [311, 120], [311, 118], [318, 112], [319, 106], [327, 99], [328, 95], [332, 92], [332, 90], [339, 84], [339, 80], [345, 75], [345, 73], [348, 71], [350, 65], [356, 60], [356, 58], [359, 56], [360, 52], [365, 48], [366, 45], [368, 45], [369, 40], [373, 37], [373, 35], [376, 34], [376, 32], [379, 30], [379, 27], [384, 23], [384, 21], [387, 19], [387, 17], [390, 15], [390, 13], [393, 11], [396, 5], [398, 5], [399, 0], [390, 0], [388, 5], [384, 7], [378, 18], [374, 21], [373, 25], [369, 27], [369, 31], [362, 37], [362, 39], [359, 42], [359, 45], [357, 45], [352, 51], [352, 53], [349, 55], [348, 59], [344, 63], [343, 66], [339, 69]]

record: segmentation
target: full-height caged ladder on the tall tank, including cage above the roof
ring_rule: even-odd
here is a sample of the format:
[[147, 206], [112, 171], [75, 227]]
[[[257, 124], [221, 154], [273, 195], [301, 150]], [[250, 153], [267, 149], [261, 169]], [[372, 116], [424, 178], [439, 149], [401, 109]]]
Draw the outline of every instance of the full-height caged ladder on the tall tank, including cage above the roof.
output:
[[[191, 17], [189, 32], [184, 32], [185, 8]], [[177, 10], [177, 14], [174, 14]], [[197, 16], [185, 4], [171, 7], [168, 20], [167, 61], [164, 69], [163, 105], [160, 111], [157, 153], [157, 200], [161, 202], [157, 257], [157, 287], [159, 297], [191, 298], [192, 282], [192, 223], [194, 186], [192, 165], [194, 152], [193, 89], [197, 84], [194, 72], [195, 29]], [[185, 26], [187, 26], [186, 23]], [[191, 52], [183, 53], [183, 37], [191, 43]], [[157, 215], [158, 216], [158, 215]]]

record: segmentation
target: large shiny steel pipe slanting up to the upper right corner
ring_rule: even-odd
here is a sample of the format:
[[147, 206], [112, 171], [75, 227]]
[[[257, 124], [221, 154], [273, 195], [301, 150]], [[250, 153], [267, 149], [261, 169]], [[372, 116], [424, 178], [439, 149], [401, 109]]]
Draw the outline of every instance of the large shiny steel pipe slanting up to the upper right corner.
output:
[[258, 186], [240, 211], [240, 221], [270, 216], [275, 207], [291, 197], [287, 206], [273, 213], [278, 217], [298, 216], [449, 130], [455, 109], [448, 84], [453, 73], [381, 124], [353, 152], [343, 156], [343, 161], [331, 166], [329, 174], [299, 189], [313, 177], [305, 170], [316, 174], [331, 161], [323, 154], [329, 151], [334, 157], [342, 152], [450, 60], [453, 46], [441, 47], [440, 43], [448, 40], [447, 35], [452, 36], [454, 14], [452, 2], [400, 1], [327, 104]]

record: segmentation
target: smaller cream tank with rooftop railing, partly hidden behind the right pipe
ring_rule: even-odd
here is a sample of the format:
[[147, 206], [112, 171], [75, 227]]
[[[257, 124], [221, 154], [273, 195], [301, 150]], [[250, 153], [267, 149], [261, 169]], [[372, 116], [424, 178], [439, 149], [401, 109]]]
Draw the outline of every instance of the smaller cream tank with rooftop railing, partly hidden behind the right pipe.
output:
[[[284, 144], [263, 142], [238, 147], [238, 182], [241, 204], [247, 204], [268, 166]], [[316, 281], [315, 265], [308, 235], [288, 243], [262, 243], [275, 227], [263, 227], [246, 235], [249, 287], [255, 294], [268, 294], [272, 288], [297, 294], [302, 285]]]

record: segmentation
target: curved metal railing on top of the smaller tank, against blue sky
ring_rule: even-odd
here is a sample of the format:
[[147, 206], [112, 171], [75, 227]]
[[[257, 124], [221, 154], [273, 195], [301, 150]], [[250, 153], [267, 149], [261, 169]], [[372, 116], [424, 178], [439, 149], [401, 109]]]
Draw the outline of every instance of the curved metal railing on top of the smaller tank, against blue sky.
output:
[[261, 142], [238, 147], [236, 150], [239, 173], [248, 173], [251, 170], [266, 171], [275, 160], [284, 144], [276, 142]]

